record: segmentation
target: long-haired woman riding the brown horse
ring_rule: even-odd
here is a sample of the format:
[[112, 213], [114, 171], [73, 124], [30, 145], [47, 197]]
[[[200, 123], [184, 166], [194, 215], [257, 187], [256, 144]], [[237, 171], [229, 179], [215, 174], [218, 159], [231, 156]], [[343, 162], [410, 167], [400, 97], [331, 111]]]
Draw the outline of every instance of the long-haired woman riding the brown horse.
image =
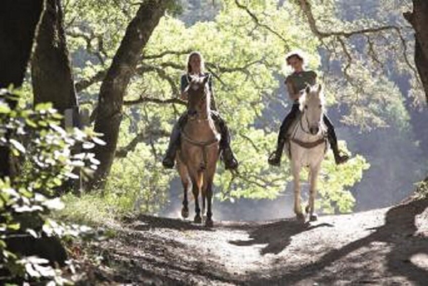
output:
[[[208, 86], [211, 93], [211, 117], [213, 118], [215, 125], [219, 129], [221, 134], [220, 140], [220, 150], [221, 157], [224, 161], [224, 166], [226, 170], [235, 170], [238, 167], [238, 162], [233, 155], [232, 149], [230, 148], [230, 133], [229, 129], [226, 126], [224, 120], [220, 117], [220, 114], [216, 111], [214, 93], [212, 89], [212, 76], [211, 74], [205, 72], [204, 59], [199, 52], [192, 52], [187, 57], [187, 66], [186, 73], [181, 76], [180, 82], [180, 97], [183, 100], [187, 100], [186, 88], [191, 81], [191, 75], [198, 76], [208, 76]], [[187, 121], [187, 111], [180, 116], [177, 124], [172, 130], [170, 137], [168, 149], [166, 151], [165, 157], [162, 160], [162, 165], [167, 169], [172, 169], [174, 167], [175, 153], [178, 146], [180, 145], [180, 132], [184, 127]]]

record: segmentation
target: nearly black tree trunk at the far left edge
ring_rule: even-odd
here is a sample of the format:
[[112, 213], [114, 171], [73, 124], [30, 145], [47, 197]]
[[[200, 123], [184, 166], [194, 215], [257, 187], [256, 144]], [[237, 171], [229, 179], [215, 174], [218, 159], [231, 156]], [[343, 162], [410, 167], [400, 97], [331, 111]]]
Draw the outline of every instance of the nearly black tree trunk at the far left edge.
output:
[[[0, 5], [0, 88], [22, 85], [43, 0], [3, 0]], [[14, 108], [16, 101], [8, 101]], [[9, 148], [0, 146], [0, 178], [13, 177]]]

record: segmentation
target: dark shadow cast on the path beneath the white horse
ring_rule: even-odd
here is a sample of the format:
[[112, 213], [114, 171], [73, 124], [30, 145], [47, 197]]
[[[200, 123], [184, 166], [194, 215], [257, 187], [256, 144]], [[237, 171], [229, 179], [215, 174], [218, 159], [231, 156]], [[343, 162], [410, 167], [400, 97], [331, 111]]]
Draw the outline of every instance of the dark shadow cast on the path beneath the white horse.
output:
[[267, 246], [260, 250], [260, 254], [278, 254], [290, 244], [292, 236], [322, 226], [333, 227], [328, 223], [311, 225], [297, 220], [281, 220], [255, 227], [250, 231], [249, 240], [231, 240], [228, 242], [235, 246], [252, 246], [254, 244], [267, 243]]

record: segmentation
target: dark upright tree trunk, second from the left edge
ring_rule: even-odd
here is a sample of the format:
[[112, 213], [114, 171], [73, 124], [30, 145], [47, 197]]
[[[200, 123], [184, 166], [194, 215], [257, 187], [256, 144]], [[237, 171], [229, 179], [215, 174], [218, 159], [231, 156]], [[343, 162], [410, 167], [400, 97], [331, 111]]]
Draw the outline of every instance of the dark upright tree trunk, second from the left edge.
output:
[[77, 98], [67, 50], [61, 0], [46, 0], [31, 61], [34, 106], [52, 102], [61, 114], [77, 111]]

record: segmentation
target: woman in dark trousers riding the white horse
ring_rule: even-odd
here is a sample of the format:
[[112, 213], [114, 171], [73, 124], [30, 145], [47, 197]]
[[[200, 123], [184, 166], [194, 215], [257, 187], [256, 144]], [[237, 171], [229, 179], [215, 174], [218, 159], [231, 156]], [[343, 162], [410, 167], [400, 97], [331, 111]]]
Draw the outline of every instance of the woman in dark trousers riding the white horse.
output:
[[[284, 149], [284, 144], [288, 140], [288, 130], [300, 113], [300, 91], [304, 90], [308, 85], [313, 86], [316, 84], [316, 73], [312, 70], [304, 69], [305, 60], [300, 52], [292, 52], [288, 54], [286, 56], [286, 62], [293, 68], [293, 73], [291, 73], [285, 81], [289, 96], [293, 100], [293, 106], [289, 114], [282, 121], [279, 129], [276, 150], [269, 156], [268, 162], [272, 166], [280, 165], [282, 150]], [[336, 137], [335, 128], [331, 124], [327, 115], [324, 115], [323, 121], [327, 127], [327, 138], [333, 154], [335, 155], [336, 164], [342, 164], [349, 159], [349, 156], [346, 154], [341, 155], [338, 148], [338, 139]]]

